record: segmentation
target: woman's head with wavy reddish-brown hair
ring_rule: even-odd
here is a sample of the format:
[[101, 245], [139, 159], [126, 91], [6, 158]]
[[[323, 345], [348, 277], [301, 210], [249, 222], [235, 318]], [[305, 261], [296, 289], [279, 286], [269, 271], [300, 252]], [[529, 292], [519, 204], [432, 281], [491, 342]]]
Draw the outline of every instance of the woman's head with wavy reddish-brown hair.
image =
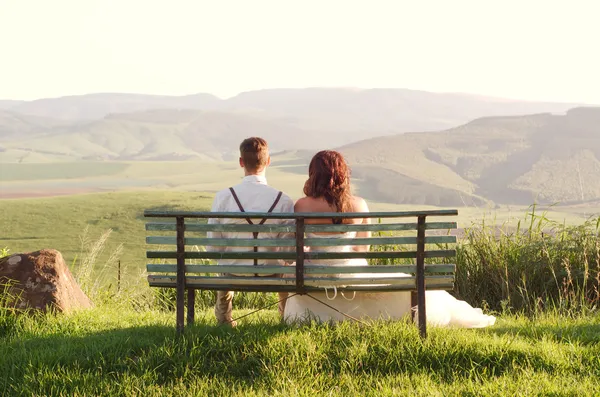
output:
[[323, 150], [315, 154], [308, 167], [304, 184], [307, 197], [324, 198], [338, 212], [350, 207], [350, 168], [341, 153]]

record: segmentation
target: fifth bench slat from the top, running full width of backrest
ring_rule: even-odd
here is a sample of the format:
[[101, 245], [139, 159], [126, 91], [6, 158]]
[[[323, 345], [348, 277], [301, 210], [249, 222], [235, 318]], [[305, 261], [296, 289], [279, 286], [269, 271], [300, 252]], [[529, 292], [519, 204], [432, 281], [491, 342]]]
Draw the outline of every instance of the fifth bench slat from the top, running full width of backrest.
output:
[[[149, 273], [175, 273], [177, 265], [148, 264]], [[425, 265], [425, 274], [454, 273], [454, 264]], [[252, 265], [186, 265], [186, 273], [234, 273], [234, 274], [295, 274], [294, 266], [252, 266]], [[319, 266], [304, 265], [305, 274], [336, 274], [336, 273], [415, 273], [415, 265], [388, 266]]]

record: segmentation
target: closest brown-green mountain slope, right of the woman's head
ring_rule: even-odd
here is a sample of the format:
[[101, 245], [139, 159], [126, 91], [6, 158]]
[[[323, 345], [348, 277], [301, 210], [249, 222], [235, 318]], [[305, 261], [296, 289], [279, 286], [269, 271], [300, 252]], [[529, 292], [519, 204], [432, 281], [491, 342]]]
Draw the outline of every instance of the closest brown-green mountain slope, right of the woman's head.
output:
[[486, 117], [443, 132], [374, 138], [339, 150], [370, 199], [419, 198], [431, 205], [600, 199], [600, 107]]

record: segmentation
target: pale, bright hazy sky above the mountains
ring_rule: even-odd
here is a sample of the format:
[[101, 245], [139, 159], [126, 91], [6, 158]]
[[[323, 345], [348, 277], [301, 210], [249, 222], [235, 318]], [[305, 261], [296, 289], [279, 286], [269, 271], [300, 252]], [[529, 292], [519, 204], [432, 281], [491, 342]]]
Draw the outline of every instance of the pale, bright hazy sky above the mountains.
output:
[[596, 0], [0, 0], [0, 99], [410, 88], [600, 104]]

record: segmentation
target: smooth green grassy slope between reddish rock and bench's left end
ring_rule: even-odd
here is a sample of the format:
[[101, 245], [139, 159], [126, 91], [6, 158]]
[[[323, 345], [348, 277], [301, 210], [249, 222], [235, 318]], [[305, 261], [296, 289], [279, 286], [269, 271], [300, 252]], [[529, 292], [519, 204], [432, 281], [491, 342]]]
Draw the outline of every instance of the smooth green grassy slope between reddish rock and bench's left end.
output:
[[123, 266], [141, 271], [146, 250], [144, 209], [206, 209], [211, 202], [212, 197], [203, 193], [169, 191], [4, 200], [0, 219], [12, 226], [0, 232], [0, 246], [9, 246], [12, 252], [54, 248], [72, 263], [85, 255], [82, 246], [89, 245], [86, 241], [95, 241], [111, 229], [111, 238], [98, 255], [96, 267], [102, 267], [122, 244]]

